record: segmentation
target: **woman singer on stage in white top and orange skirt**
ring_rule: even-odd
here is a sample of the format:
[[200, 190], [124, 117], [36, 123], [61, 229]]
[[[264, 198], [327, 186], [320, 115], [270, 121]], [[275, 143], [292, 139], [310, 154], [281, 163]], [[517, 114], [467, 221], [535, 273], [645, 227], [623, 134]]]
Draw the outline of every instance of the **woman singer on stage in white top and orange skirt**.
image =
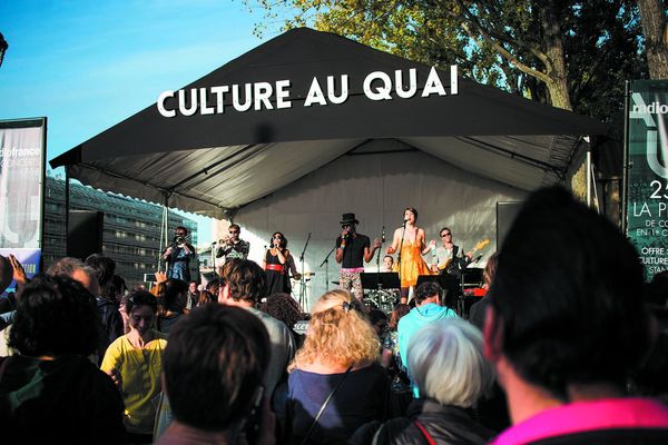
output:
[[401, 301], [405, 304], [409, 299], [409, 289], [418, 284], [420, 275], [432, 275], [429, 266], [422, 259], [433, 247], [435, 241], [425, 246], [424, 229], [415, 225], [418, 221], [418, 210], [406, 207], [404, 210], [404, 224], [394, 230], [392, 246], [387, 248], [387, 254], [393, 255], [399, 251], [394, 270], [399, 271], [401, 279]]

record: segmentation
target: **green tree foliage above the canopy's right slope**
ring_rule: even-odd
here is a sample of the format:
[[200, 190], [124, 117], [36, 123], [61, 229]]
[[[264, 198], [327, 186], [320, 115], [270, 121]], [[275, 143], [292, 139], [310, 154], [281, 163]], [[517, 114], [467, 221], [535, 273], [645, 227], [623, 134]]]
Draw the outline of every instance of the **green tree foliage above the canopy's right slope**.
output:
[[[261, 0], [268, 26], [308, 26], [606, 121], [646, 77], [631, 0]], [[267, 21], [265, 21], [267, 23]]]

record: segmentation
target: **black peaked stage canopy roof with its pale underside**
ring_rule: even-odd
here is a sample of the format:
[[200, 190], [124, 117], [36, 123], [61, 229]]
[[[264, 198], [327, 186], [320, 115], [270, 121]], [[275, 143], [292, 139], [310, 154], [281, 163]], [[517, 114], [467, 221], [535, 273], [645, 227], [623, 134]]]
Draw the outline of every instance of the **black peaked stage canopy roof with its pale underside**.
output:
[[[418, 92], [407, 99], [371, 100], [363, 90], [372, 72], [394, 83], [401, 70], [418, 70]], [[601, 122], [537, 103], [439, 71], [445, 96], [422, 97], [430, 67], [374, 50], [352, 40], [307, 28], [287, 31], [185, 87], [210, 87], [288, 80], [289, 108], [237, 111], [232, 93], [224, 112], [167, 118], [156, 103], [50, 161], [69, 166], [84, 184], [184, 210], [220, 217], [293, 182], [370, 140], [409, 145], [501, 182], [530, 190], [563, 178], [582, 136], [605, 135]], [[305, 107], [313, 79], [323, 90], [333, 76], [336, 92], [347, 75], [345, 102]], [[372, 85], [376, 90], [379, 83]], [[161, 91], [156, 91], [156, 97]], [[178, 96], [176, 93], [175, 96]], [[325, 92], [326, 96], [326, 92]], [[165, 101], [177, 109], [177, 100]], [[377, 144], [375, 144], [377, 146]]]

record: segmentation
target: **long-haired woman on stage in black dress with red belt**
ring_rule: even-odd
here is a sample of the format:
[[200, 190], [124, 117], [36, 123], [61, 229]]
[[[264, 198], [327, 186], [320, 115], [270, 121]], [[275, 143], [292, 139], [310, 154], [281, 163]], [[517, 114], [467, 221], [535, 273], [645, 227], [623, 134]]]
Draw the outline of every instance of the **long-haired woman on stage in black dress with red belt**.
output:
[[276, 231], [272, 235], [269, 244], [272, 247], [267, 249], [263, 260], [263, 269], [267, 275], [267, 295], [289, 295], [292, 293], [289, 276], [295, 279], [301, 279], [302, 276], [297, 273], [295, 260], [287, 249], [287, 238]]

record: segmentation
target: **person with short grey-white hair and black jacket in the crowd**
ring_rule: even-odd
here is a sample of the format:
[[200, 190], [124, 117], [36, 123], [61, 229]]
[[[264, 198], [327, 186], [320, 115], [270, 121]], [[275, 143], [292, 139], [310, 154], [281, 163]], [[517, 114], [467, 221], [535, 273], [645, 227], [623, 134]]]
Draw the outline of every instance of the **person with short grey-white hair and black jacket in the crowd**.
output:
[[494, 379], [480, 330], [461, 318], [433, 322], [410, 339], [407, 362], [421, 398], [406, 417], [362, 426], [351, 444], [485, 444], [495, 434], [470, 414]]

